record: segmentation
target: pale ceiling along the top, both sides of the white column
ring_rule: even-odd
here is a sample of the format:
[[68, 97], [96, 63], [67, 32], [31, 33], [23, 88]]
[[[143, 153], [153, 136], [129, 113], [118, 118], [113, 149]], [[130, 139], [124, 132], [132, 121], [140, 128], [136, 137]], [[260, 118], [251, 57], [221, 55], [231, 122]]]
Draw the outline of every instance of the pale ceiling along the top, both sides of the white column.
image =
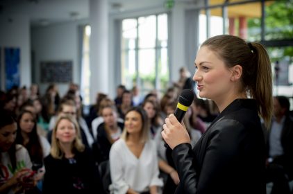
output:
[[[108, 0], [108, 8], [110, 14], [128, 12], [164, 6], [165, 1]], [[89, 3], [90, 0], [0, 0], [0, 17], [3, 15], [26, 15], [33, 26], [87, 19]]]

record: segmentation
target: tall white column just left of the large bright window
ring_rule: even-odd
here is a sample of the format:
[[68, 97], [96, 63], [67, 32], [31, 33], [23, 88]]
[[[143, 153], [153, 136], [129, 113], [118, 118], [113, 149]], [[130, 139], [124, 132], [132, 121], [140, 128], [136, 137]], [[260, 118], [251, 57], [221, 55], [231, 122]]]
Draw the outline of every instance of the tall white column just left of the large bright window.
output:
[[108, 1], [90, 0], [90, 103], [109, 92], [108, 20]]

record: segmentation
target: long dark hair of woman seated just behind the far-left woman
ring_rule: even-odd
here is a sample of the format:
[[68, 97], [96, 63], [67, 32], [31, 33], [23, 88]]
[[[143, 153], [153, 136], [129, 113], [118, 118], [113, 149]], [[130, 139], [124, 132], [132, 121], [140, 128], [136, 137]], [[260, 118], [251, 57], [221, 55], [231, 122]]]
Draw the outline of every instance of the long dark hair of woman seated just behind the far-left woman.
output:
[[[20, 120], [24, 114], [31, 114], [31, 116], [33, 116], [33, 123], [35, 124], [31, 133], [28, 134], [29, 141], [26, 145], [24, 145], [24, 137], [22, 136], [22, 128], [20, 127]], [[37, 121], [35, 120], [35, 115], [30, 111], [24, 110], [20, 112], [19, 116], [17, 117], [16, 143], [24, 145], [24, 147], [28, 150], [31, 161], [42, 163], [44, 154], [42, 151], [42, 145], [40, 143], [40, 137], [37, 134]]]

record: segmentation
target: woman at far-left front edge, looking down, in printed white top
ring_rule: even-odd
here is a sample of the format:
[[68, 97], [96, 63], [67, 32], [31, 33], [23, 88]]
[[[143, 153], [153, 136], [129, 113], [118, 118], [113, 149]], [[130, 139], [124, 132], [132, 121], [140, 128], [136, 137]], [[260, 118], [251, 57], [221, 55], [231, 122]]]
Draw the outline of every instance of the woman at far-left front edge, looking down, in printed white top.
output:
[[0, 193], [24, 193], [34, 188], [32, 164], [24, 146], [15, 143], [17, 123], [0, 112]]

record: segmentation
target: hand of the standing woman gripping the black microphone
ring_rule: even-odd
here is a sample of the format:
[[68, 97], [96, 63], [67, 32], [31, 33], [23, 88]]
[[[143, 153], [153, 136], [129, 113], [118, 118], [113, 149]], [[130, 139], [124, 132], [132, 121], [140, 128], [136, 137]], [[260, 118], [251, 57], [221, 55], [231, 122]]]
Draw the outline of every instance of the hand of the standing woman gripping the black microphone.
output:
[[161, 132], [162, 138], [173, 150], [176, 145], [181, 143], [190, 143], [190, 136], [185, 129], [185, 125], [179, 123], [174, 114], [170, 114], [168, 118], [165, 119], [165, 124], [162, 125], [163, 131]]

